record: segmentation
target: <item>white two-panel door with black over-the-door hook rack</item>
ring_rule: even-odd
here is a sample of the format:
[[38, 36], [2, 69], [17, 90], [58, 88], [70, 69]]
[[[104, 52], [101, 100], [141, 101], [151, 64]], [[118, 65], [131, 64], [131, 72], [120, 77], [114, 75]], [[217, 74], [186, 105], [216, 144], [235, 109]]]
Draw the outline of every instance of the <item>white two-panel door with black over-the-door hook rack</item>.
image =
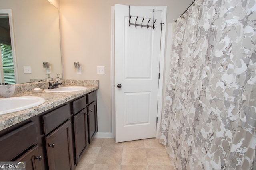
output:
[[[130, 15], [115, 5], [116, 142], [156, 137], [162, 12], [131, 6]], [[153, 25], [153, 18], [154, 29], [129, 26], [129, 19]]]

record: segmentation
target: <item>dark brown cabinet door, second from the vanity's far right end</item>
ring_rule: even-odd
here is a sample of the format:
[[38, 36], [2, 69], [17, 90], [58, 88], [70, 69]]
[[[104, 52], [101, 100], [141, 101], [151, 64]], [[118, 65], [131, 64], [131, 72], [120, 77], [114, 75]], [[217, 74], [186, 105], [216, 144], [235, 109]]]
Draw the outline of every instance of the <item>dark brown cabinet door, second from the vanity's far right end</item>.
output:
[[76, 164], [88, 145], [87, 111], [82, 110], [74, 116], [74, 137], [76, 147]]

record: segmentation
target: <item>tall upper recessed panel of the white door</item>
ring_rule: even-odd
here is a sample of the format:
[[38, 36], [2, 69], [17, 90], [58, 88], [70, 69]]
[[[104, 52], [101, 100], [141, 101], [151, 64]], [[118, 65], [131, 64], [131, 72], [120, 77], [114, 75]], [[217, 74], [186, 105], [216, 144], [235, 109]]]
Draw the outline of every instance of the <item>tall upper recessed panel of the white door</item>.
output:
[[[152, 12], [152, 11], [151, 11]], [[135, 19], [135, 17], [133, 17]], [[141, 23], [142, 17], [137, 22]], [[131, 22], [135, 22], [131, 18]], [[124, 75], [125, 79], [150, 79], [152, 76], [152, 29], [129, 27], [129, 16], [124, 26]]]

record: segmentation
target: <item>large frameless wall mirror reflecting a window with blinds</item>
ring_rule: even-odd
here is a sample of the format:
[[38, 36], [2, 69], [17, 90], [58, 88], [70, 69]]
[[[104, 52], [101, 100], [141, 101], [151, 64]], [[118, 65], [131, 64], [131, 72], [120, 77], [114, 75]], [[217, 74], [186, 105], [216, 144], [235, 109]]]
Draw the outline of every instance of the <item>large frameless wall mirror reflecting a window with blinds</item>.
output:
[[[8, 12], [4, 12], [6, 10], [11, 11], [12, 20]], [[9, 51], [12, 51], [16, 57], [16, 60], [14, 59], [15, 83], [30, 82], [31, 79], [46, 79], [49, 71], [51, 78], [62, 74], [58, 9], [48, 0], [0, 0], [1, 11], [0, 43], [3, 44], [1, 49], [7, 51], [11, 46]], [[8, 31], [6, 26], [8, 22], [13, 28], [11, 31]], [[1, 59], [1, 75], [4, 74], [2, 62]], [[51, 69], [46, 70], [43, 62], [48, 62]], [[4, 82], [3, 76], [0, 76], [0, 79], [0, 82]]]

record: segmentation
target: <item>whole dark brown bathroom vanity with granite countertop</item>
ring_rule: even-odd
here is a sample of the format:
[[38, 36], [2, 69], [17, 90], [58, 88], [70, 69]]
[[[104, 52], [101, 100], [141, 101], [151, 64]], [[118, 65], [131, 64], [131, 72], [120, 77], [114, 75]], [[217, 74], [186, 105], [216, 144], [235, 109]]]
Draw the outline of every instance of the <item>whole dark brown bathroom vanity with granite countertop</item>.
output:
[[[0, 115], [0, 161], [25, 161], [26, 170], [74, 170], [98, 130], [98, 86], [86, 87], [78, 92], [28, 92], [46, 102]], [[12, 125], [12, 120], [19, 122]]]

